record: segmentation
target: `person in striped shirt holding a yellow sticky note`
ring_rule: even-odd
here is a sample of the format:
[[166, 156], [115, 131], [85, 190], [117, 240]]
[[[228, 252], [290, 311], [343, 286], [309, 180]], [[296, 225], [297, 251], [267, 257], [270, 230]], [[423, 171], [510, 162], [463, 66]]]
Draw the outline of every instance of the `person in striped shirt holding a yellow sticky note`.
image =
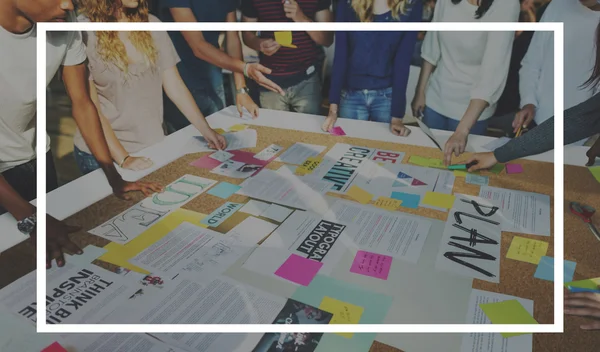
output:
[[[331, 22], [331, 0], [242, 0], [245, 22]], [[321, 107], [321, 70], [324, 53], [333, 32], [298, 31], [282, 33], [291, 43], [278, 43], [275, 32], [243, 32], [244, 43], [259, 52], [260, 63], [273, 69], [268, 77], [284, 89], [276, 94], [262, 89], [261, 107], [266, 109], [319, 114]], [[283, 44], [283, 45], [282, 45]]]

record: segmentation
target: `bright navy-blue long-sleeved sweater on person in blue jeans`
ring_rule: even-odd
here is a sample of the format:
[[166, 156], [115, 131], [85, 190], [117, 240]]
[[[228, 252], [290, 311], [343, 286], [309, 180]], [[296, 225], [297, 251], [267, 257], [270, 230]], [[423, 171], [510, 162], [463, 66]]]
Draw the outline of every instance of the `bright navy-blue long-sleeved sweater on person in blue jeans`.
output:
[[[423, 3], [412, 0], [405, 14], [395, 19], [391, 11], [373, 16], [373, 22], [419, 22]], [[359, 22], [351, 0], [341, 0], [337, 22]], [[335, 57], [329, 101], [340, 103], [341, 92], [392, 87], [392, 117], [404, 117], [410, 60], [418, 32], [350, 31], [335, 33]]]

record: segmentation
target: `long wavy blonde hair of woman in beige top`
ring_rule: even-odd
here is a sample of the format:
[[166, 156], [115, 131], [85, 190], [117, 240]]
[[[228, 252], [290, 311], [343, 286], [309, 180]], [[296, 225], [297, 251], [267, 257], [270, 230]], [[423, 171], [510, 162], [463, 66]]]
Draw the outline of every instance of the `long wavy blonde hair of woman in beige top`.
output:
[[[91, 22], [117, 22], [117, 14], [124, 11], [128, 22], [148, 22], [148, 2], [140, 0], [136, 9], [124, 9], [120, 0], [82, 0], [80, 3], [81, 13]], [[96, 32], [96, 48], [100, 57], [108, 63], [112, 63], [122, 72], [128, 73], [129, 59], [125, 44], [119, 38], [116, 31]], [[133, 46], [144, 56], [153, 68], [158, 61], [158, 51], [154, 44], [152, 34], [147, 31], [129, 32], [129, 40]]]

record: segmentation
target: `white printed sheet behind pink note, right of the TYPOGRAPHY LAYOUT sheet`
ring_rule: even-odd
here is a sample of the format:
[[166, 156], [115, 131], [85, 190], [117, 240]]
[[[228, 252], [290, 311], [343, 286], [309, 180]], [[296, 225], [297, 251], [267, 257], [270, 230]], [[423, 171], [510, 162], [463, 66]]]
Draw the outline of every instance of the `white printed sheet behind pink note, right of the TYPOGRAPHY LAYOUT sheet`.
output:
[[336, 202], [325, 219], [351, 228], [358, 248], [410, 263], [419, 260], [431, 227], [425, 218], [349, 201]]

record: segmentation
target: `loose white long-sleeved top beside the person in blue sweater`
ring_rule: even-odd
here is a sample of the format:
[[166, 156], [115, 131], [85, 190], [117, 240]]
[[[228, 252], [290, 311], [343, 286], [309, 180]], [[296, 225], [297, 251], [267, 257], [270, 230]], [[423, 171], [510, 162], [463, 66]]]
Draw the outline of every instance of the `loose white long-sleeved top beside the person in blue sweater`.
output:
[[[482, 18], [467, 0], [437, 1], [434, 22], [517, 22], [517, 0], [496, 0]], [[421, 56], [436, 66], [425, 93], [426, 105], [454, 120], [462, 119], [469, 102], [489, 103], [479, 120], [490, 118], [500, 99], [512, 53], [514, 32], [427, 32]]]

